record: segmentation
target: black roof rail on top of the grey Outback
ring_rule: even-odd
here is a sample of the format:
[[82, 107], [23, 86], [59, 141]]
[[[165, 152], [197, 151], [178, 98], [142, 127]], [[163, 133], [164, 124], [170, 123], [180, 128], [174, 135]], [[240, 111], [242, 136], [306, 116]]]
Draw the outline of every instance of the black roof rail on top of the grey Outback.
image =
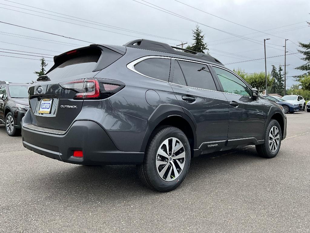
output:
[[[222, 62], [220, 62], [218, 59], [207, 55], [205, 53], [197, 53], [192, 50], [188, 50], [185, 48], [179, 48], [175, 46], [170, 46], [169, 44], [162, 43], [162, 42], [157, 42], [153, 40], [147, 40], [147, 39], [136, 39], [129, 41], [128, 43], [124, 44], [124, 46], [127, 47], [132, 47], [132, 48], [143, 48], [143, 49], [150, 49], [150, 50], [155, 50], [155, 51], [160, 51], [160, 52], [166, 52], [166, 53], [175, 53], [183, 56], [188, 56], [188, 57], [195, 57], [201, 60], [206, 60], [209, 62], [214, 62], [214, 63], [219, 63], [223, 65]], [[182, 50], [182, 51], [179, 51]], [[184, 52], [187, 53], [184, 53]]]

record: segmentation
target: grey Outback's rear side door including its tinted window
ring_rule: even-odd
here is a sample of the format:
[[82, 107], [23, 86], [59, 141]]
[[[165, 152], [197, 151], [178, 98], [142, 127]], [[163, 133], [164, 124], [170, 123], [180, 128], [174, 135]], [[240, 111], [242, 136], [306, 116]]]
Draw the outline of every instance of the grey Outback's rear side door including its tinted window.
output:
[[197, 147], [203, 150], [217, 144], [214, 149], [220, 149], [227, 140], [228, 103], [208, 65], [173, 59], [171, 64], [174, 73], [170, 85], [185, 113], [190, 112], [197, 123]]

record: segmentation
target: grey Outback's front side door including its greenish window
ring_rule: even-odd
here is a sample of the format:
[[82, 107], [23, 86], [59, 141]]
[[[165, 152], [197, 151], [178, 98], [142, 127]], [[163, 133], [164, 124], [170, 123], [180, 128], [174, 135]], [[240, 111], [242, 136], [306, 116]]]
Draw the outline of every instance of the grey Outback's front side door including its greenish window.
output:
[[[260, 99], [251, 98], [252, 91], [249, 86], [237, 75], [216, 66], [212, 66], [212, 68], [217, 74], [229, 103], [228, 140], [249, 138], [251, 141], [250, 138], [253, 138], [255, 141], [263, 139], [265, 114]], [[238, 143], [237, 140], [236, 143]]]

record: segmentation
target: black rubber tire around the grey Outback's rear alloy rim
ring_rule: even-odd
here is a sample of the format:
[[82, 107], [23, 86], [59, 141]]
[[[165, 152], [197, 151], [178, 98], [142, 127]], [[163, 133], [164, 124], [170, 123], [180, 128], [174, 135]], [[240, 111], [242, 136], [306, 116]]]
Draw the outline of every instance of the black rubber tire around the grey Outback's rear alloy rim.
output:
[[[178, 139], [179, 142], [183, 144], [184, 152], [185, 152], [184, 167], [179, 173], [179, 176], [177, 177], [173, 177], [172, 173], [170, 173], [171, 175], [170, 178], [172, 177], [174, 178], [174, 180], [166, 181], [161, 176], [159, 176], [159, 173], [157, 171], [158, 168], [156, 166], [156, 162], [158, 162], [158, 157], [159, 157], [159, 155], [157, 154], [157, 151], [160, 149], [160, 146], [162, 145], [162, 143], [164, 143], [166, 139], [169, 139], [171, 137]], [[183, 148], [181, 148], [181, 150], [183, 150]], [[173, 158], [172, 153], [171, 153], [171, 157]], [[140, 180], [142, 180], [142, 182], [149, 188], [160, 191], [160, 192], [168, 192], [168, 191], [176, 189], [183, 182], [189, 169], [190, 160], [191, 160], [190, 145], [183, 131], [181, 131], [180, 129], [176, 127], [172, 127], [172, 126], [161, 126], [161, 127], [158, 127], [158, 129], [156, 129], [150, 136], [148, 145], [145, 149], [144, 162], [143, 164], [137, 166], [138, 176]], [[168, 161], [166, 163], [167, 165], [163, 166], [163, 167], [168, 166], [166, 171], [170, 170], [168, 169], [169, 167], [170, 168], [173, 167], [171, 162], [173, 162], [174, 160], [169, 162], [169, 159], [168, 159], [167, 161]], [[175, 162], [174, 162], [174, 165], [176, 164]], [[176, 165], [174, 167], [176, 167]], [[171, 169], [173, 170], [173, 168]], [[174, 174], [174, 176], [176, 175]], [[167, 179], [168, 179], [168, 176], [167, 176]]]

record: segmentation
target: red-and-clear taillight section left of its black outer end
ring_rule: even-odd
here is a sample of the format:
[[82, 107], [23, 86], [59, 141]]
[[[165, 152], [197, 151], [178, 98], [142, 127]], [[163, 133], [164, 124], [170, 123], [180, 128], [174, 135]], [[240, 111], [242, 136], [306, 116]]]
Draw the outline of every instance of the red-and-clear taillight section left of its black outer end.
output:
[[59, 84], [63, 89], [71, 89], [77, 92], [74, 98], [98, 98], [100, 86], [96, 79], [79, 79]]

